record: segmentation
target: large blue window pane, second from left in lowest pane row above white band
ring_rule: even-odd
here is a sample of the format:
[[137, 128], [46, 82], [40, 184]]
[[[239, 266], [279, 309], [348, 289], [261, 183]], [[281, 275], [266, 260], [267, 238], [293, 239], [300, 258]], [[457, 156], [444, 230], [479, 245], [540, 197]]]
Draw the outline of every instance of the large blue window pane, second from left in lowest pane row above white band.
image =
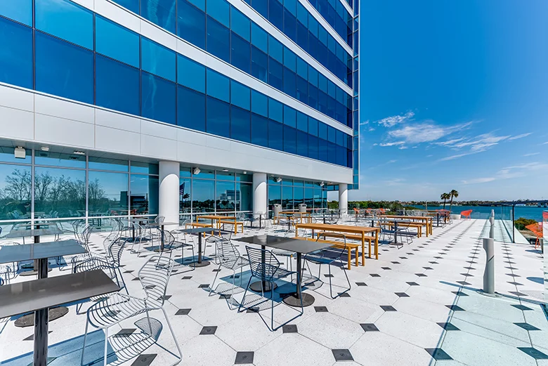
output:
[[93, 103], [93, 53], [36, 32], [36, 89]]

